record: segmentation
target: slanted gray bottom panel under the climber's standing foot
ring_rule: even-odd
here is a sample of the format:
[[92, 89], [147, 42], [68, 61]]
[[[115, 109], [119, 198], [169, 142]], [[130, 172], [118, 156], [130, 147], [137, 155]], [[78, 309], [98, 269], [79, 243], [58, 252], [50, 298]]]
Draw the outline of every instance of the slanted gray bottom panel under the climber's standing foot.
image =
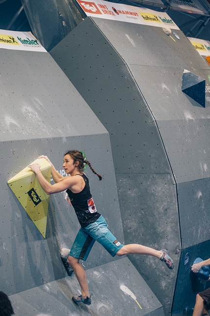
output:
[[[43, 313], [41, 315], [164, 316], [161, 303], [128, 258], [91, 268], [87, 271], [87, 277], [89, 287], [94, 293], [94, 303], [90, 306], [79, 306], [71, 301], [71, 297], [79, 291], [73, 275], [11, 295], [15, 315], [37, 316], [37, 313]], [[136, 295], [142, 309], [120, 289], [121, 285]]]

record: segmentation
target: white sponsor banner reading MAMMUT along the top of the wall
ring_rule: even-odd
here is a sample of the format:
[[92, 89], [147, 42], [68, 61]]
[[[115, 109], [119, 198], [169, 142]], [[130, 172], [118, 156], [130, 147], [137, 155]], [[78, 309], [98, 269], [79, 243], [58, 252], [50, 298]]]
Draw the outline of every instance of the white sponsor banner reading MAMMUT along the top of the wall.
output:
[[77, 0], [87, 16], [179, 29], [165, 12], [103, 0]]

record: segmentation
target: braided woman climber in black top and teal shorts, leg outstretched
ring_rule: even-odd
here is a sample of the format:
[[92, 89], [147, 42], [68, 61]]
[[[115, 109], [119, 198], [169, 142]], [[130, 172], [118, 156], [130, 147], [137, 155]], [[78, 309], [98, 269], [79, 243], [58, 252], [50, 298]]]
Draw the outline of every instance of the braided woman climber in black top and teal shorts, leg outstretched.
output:
[[[89, 294], [86, 273], [79, 260], [85, 261], [87, 259], [95, 241], [101, 243], [113, 257], [127, 254], [150, 255], [160, 259], [169, 269], [173, 269], [173, 260], [168, 256], [165, 249], [155, 250], [137, 243], [123, 245], [109, 231], [104, 217], [98, 213], [94, 204], [88, 178], [83, 172], [84, 164], [90, 167], [99, 177], [99, 180], [102, 179], [102, 176], [93, 170], [90, 163], [84, 159], [82, 152], [70, 150], [65, 153], [63, 168], [66, 174], [71, 176], [64, 177], [55, 169], [47, 156], [42, 155], [39, 158], [45, 158], [51, 164], [51, 173], [55, 184], [50, 184], [43, 177], [39, 164], [31, 164], [28, 167], [36, 173], [37, 179], [46, 194], [54, 194], [66, 190], [81, 225], [66, 263], [62, 260], [69, 275], [71, 274], [70, 267], [72, 267], [81, 287], [81, 295], [73, 296], [73, 302], [82, 302], [86, 305], [91, 304], [91, 294]], [[62, 253], [63, 249], [61, 250], [61, 257], [63, 258]]]

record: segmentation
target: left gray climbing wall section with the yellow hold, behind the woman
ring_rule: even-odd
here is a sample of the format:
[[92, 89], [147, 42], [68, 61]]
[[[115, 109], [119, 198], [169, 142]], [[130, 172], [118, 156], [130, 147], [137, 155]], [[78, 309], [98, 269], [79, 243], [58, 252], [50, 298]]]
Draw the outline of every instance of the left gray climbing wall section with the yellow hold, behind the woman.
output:
[[[6, 36], [17, 38], [15, 32]], [[0, 290], [9, 295], [17, 316], [102, 316], [110, 310], [112, 315], [126, 316], [129, 311], [130, 315], [163, 316], [162, 304], [130, 260], [112, 258], [97, 243], [87, 261], [81, 262], [87, 271], [93, 303], [83, 308], [72, 302], [71, 297], [81, 292], [75, 275], [69, 277], [65, 272], [60, 249], [71, 247], [80, 226], [72, 206], [64, 199], [65, 192], [36, 196], [40, 188], [27, 166], [46, 154], [66, 176], [63, 154], [69, 149], [82, 150], [104, 178], [99, 182], [91, 170], [85, 170], [97, 210], [124, 243], [110, 138], [50, 54], [21, 48], [7, 49], [5, 44], [0, 49]], [[48, 167], [46, 172], [42, 166], [41, 170], [53, 183]], [[36, 198], [48, 203], [47, 213], [46, 205], [43, 212], [44, 231], [35, 224], [40, 218]], [[34, 216], [28, 212], [29, 205], [36, 210]], [[125, 288], [132, 292], [131, 296], [122, 290]]]

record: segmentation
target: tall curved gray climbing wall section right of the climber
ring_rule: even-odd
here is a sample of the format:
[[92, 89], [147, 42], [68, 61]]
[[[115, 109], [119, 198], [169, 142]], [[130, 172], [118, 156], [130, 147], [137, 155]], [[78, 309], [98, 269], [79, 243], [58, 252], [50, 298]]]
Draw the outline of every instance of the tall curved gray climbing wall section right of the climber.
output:
[[209, 256], [210, 69], [170, 28], [87, 17], [50, 54], [109, 132], [126, 243], [166, 248], [175, 267], [129, 259], [183, 315], [199, 291], [190, 266]]

